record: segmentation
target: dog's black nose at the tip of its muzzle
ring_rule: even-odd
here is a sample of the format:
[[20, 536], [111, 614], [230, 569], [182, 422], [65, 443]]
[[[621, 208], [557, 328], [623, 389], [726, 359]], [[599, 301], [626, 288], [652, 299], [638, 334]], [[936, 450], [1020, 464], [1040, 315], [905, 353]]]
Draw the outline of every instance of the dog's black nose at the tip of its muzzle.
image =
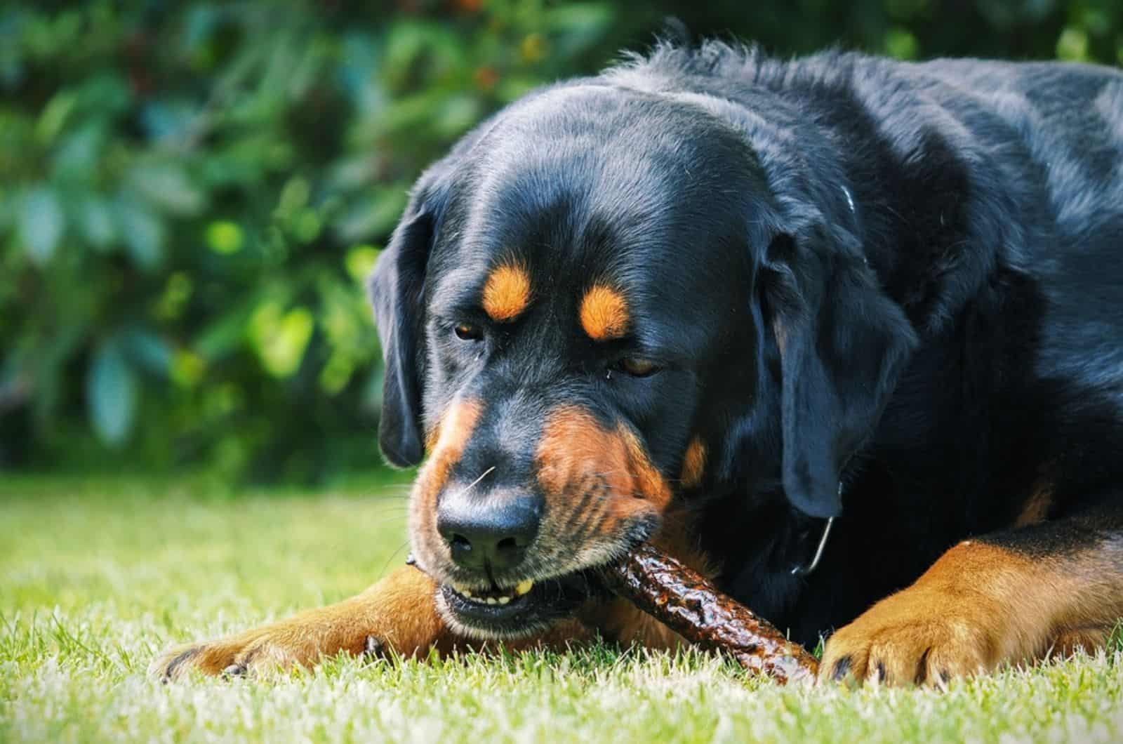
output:
[[437, 532], [462, 568], [513, 569], [538, 534], [540, 515], [541, 499], [536, 496], [481, 499], [449, 495], [437, 507]]

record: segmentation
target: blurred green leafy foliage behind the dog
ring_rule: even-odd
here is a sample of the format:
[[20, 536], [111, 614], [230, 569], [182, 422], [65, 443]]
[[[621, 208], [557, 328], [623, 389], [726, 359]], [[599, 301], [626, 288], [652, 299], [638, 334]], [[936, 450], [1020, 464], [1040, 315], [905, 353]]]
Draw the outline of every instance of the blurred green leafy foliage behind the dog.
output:
[[1123, 60], [1115, 0], [9, 1], [0, 468], [373, 466], [362, 280], [411, 181], [666, 15], [783, 54]]

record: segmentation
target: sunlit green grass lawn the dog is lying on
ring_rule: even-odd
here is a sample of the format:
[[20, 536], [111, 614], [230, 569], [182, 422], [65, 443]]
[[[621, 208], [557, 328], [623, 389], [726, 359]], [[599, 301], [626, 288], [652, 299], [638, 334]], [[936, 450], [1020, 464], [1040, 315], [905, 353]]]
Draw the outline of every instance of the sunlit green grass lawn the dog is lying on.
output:
[[403, 560], [404, 489], [0, 482], [0, 742], [1123, 741], [1123, 652], [947, 692], [795, 690], [696, 653], [363, 662], [145, 678], [157, 650], [358, 591]]

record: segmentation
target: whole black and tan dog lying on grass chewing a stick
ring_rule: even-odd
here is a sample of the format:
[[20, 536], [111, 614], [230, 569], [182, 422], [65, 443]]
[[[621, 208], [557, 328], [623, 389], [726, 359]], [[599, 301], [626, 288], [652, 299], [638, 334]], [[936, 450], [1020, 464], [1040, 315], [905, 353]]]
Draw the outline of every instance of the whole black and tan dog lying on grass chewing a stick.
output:
[[417, 565], [159, 675], [667, 646], [596, 580], [645, 539], [833, 633], [829, 678], [939, 682], [1123, 615], [1115, 71], [661, 44], [467, 135], [371, 294], [382, 450], [428, 455]]

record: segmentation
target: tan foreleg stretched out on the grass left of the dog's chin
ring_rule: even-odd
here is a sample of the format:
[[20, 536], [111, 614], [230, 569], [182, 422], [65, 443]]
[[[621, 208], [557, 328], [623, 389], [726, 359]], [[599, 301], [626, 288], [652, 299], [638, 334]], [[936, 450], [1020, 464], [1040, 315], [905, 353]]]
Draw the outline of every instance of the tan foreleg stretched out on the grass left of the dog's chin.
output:
[[403, 656], [424, 654], [453, 638], [437, 614], [433, 581], [403, 566], [360, 595], [300, 613], [245, 633], [170, 648], [149, 666], [161, 679], [190, 669], [207, 674], [247, 674], [311, 666], [340, 651]]

